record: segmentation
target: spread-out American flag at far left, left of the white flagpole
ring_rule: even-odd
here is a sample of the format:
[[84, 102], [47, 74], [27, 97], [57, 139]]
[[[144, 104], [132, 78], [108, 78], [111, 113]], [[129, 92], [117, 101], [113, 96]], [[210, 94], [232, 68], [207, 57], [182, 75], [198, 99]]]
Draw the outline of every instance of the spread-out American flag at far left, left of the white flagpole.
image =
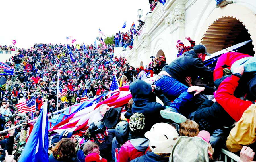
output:
[[27, 113], [36, 110], [36, 97], [33, 97], [31, 100], [21, 102], [16, 104], [20, 113]]

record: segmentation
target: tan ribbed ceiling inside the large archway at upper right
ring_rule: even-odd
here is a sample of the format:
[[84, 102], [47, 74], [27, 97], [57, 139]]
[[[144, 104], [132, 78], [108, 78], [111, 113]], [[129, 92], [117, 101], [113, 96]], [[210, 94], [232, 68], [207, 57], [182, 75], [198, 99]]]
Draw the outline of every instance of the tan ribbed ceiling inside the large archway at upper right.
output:
[[212, 54], [232, 46], [243, 29], [245, 26], [235, 18], [220, 18], [209, 26], [201, 39], [201, 44], [205, 45], [207, 52]]

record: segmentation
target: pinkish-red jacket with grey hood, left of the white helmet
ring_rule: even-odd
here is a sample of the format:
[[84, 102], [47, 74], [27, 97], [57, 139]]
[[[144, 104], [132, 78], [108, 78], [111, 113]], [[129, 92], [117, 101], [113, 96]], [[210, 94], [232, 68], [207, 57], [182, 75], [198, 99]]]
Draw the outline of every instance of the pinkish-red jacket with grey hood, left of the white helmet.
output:
[[131, 139], [121, 146], [117, 162], [129, 162], [143, 156], [148, 148], [149, 140], [146, 138]]

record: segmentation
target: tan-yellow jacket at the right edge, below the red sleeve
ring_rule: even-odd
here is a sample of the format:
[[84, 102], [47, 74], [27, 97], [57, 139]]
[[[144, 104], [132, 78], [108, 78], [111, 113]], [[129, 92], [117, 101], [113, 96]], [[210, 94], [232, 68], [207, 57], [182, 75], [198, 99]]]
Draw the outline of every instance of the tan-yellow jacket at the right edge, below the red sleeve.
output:
[[226, 146], [231, 152], [238, 152], [256, 140], [256, 104], [244, 111], [241, 119], [230, 131]]

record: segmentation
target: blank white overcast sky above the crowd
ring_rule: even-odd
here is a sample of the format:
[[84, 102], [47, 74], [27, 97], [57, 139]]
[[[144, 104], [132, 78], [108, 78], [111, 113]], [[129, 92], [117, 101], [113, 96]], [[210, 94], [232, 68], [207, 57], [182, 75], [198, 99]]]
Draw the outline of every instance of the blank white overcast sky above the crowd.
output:
[[132, 22], [137, 27], [138, 9], [143, 19], [150, 12], [148, 0], [2, 0], [0, 45], [13, 45], [13, 40], [20, 48], [66, 44], [67, 36], [77, 40], [74, 44], [93, 44], [99, 28], [108, 36], [119, 32], [125, 21], [121, 31], [130, 30]]

